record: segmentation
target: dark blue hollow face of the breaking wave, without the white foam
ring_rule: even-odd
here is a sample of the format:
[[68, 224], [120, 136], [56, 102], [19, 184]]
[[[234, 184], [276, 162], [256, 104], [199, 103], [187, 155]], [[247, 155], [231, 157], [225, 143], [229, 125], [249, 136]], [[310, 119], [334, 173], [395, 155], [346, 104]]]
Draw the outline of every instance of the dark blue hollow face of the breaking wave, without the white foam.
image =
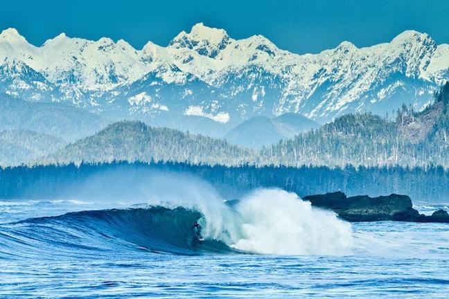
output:
[[[191, 226], [200, 217], [197, 211], [161, 206], [90, 210], [26, 219], [12, 224], [10, 232], [47, 245], [73, 249], [103, 251], [121, 246], [178, 254], [232, 252], [233, 249], [222, 242], [197, 240]], [[64, 242], [60, 242], [62, 234]]]

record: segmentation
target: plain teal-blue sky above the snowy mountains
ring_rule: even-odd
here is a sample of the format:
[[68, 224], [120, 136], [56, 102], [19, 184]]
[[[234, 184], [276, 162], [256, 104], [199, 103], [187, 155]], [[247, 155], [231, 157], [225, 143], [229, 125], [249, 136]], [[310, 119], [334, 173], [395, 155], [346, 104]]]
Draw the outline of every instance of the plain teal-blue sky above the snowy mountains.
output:
[[148, 40], [166, 46], [202, 21], [234, 38], [261, 34], [280, 48], [317, 53], [343, 40], [356, 46], [388, 42], [407, 29], [449, 43], [448, 16], [448, 0], [0, 0], [0, 30], [15, 27], [35, 45], [64, 32], [123, 38], [135, 48]]

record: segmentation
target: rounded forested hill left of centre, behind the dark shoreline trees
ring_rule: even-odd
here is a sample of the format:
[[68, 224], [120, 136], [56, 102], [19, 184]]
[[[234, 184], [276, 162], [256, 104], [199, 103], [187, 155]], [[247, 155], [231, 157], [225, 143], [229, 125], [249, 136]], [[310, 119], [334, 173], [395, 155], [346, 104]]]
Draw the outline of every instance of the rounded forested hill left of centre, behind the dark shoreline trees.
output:
[[39, 163], [174, 161], [208, 165], [254, 163], [256, 152], [220, 139], [153, 128], [139, 121], [109, 125], [94, 136], [67, 145]]

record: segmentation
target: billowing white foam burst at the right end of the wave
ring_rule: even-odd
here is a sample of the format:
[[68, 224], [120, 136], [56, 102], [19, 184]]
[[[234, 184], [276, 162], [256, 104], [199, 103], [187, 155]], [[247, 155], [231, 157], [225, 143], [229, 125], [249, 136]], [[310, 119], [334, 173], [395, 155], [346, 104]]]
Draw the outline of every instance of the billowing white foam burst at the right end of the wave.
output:
[[254, 253], [342, 255], [351, 252], [351, 225], [335, 213], [312, 208], [294, 193], [256, 190], [236, 211], [244, 236], [232, 246]]

